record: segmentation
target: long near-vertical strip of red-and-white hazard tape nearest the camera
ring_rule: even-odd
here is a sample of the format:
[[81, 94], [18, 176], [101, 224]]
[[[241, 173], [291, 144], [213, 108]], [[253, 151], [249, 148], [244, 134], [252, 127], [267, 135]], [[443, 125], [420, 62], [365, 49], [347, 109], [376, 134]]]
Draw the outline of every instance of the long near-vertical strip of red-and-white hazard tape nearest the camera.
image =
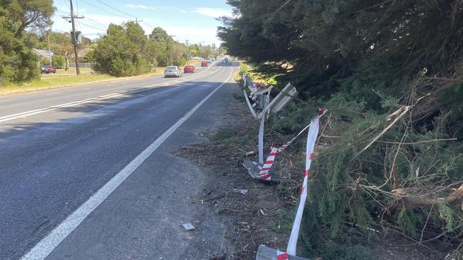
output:
[[277, 251], [276, 258], [278, 260], [288, 260], [289, 255], [296, 256], [296, 246], [299, 237], [299, 229], [301, 227], [302, 213], [304, 211], [304, 205], [306, 205], [307, 199], [307, 183], [308, 175], [311, 173], [311, 162], [313, 159], [313, 149], [315, 148], [315, 142], [318, 136], [318, 128], [320, 127], [319, 120], [323, 114], [326, 113], [326, 109], [320, 109], [317, 117], [313, 117], [311, 120], [310, 128], [308, 129], [307, 146], [306, 146], [306, 172], [304, 173], [304, 180], [302, 183], [301, 200], [299, 201], [298, 211], [296, 212], [296, 219], [293, 223], [293, 229], [291, 229], [291, 236], [289, 237], [288, 248], [286, 253]]

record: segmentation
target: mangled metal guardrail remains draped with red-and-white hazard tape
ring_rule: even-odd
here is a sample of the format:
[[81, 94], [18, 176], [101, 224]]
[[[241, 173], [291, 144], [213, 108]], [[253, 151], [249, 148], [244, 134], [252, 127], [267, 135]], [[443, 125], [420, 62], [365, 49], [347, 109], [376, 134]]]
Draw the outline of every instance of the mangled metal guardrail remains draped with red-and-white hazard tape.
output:
[[[266, 118], [269, 117], [270, 114], [281, 111], [289, 102], [291, 102], [292, 99], [297, 99], [298, 92], [296, 91], [296, 87], [293, 87], [290, 83], [288, 83], [288, 85], [286, 85], [286, 87], [284, 87], [283, 90], [281, 90], [281, 92], [270, 101], [270, 92], [273, 89], [272, 86], [259, 89], [259, 85], [256, 85], [254, 82], [252, 82], [248, 75], [243, 75], [243, 81], [244, 86], [248, 87], [251, 92], [248, 97], [246, 90], [243, 90], [246, 104], [248, 105], [254, 119], [260, 120], [258, 136], [259, 163], [250, 160], [245, 160], [243, 163], [243, 166], [249, 171], [249, 174], [252, 178], [278, 181], [279, 175], [276, 174], [276, 170], [273, 170], [272, 168], [276, 155], [288, 147], [298, 136], [303, 134], [303, 132], [308, 129], [306, 143], [306, 171], [304, 173], [302, 183], [301, 199], [299, 200], [298, 210], [296, 212], [296, 217], [291, 229], [291, 236], [288, 241], [288, 247], [286, 248], [286, 251], [279, 251], [265, 247], [264, 245], [260, 245], [256, 254], [256, 260], [304, 260], [304, 258], [296, 256], [296, 246], [299, 237], [299, 229], [301, 227], [304, 205], [306, 204], [307, 199], [308, 177], [311, 173], [311, 161], [313, 159], [313, 151], [318, 136], [319, 119], [323, 116], [323, 114], [326, 113], [326, 109], [320, 109], [318, 116], [313, 117], [311, 119], [311, 123], [302, 129], [296, 136], [294, 136], [293, 139], [283, 144], [282, 146], [271, 147], [269, 156], [264, 162], [264, 124]], [[251, 104], [249, 99], [251, 99], [254, 104]]]

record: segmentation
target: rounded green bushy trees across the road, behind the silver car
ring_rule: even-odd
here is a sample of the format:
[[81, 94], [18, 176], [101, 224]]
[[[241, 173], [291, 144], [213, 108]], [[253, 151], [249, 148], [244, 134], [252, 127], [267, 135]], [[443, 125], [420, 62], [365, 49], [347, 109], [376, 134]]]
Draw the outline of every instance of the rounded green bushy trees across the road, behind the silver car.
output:
[[[111, 24], [106, 36], [100, 38], [90, 52], [90, 58], [95, 71], [121, 77], [146, 73], [157, 65], [185, 65], [187, 56], [191, 58], [194, 52], [194, 45], [189, 47], [160, 27], [146, 36], [137, 23], [128, 22], [122, 26]], [[209, 55], [212, 55], [215, 48], [207, 46], [207, 50], [211, 50]]]

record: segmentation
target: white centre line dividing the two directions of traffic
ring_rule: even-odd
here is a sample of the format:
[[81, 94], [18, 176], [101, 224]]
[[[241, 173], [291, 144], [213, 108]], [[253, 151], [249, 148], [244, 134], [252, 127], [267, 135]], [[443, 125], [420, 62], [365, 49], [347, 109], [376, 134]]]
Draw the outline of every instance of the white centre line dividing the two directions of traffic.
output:
[[[207, 70], [204, 70], [203, 72], [205, 72], [205, 71], [207, 71]], [[216, 70], [216, 72], [217, 72], [217, 70]], [[207, 76], [207, 75], [202, 75], [200, 77], [205, 77], [205, 76]], [[159, 84], [155, 84], [155, 85], [149, 85], [149, 86], [138, 87], [138, 88], [140, 89], [140, 88], [156, 87], [156, 86], [158, 86], [160, 84], [162, 84], [162, 86], [168, 86], [168, 85], [172, 85], [174, 83], [187, 82], [188, 80], [192, 80], [192, 78], [186, 77], [184, 80], [175, 80], [175, 81], [167, 82], [165, 84], [159, 83]], [[137, 91], [142, 91], [142, 90], [127, 90], [127, 91], [124, 91], [124, 92], [105, 94], [105, 95], [100, 96], [100, 97], [90, 97], [88, 99], [80, 99], [80, 100], [77, 100], [77, 101], [74, 101], [74, 102], [69, 102], [69, 103], [65, 103], [65, 104], [58, 104], [58, 105], [52, 106], [52, 107], [43, 107], [41, 109], [33, 109], [33, 110], [29, 110], [29, 111], [21, 112], [21, 113], [17, 113], [17, 114], [9, 114], [7, 116], [0, 117], [0, 123], [4, 122], [4, 121], [10, 121], [10, 120], [13, 120], [13, 119], [19, 119], [19, 118], [23, 118], [23, 117], [32, 116], [34, 114], [41, 114], [41, 113], [44, 113], [44, 112], [50, 112], [50, 111], [60, 109], [60, 108], [74, 107], [74, 106], [77, 106], [79, 104], [86, 104], [86, 103], [89, 103], [89, 102], [95, 102], [95, 101], [99, 101], [99, 100], [103, 100], [103, 99], [108, 99], [108, 98], [111, 98], [111, 97], [118, 97], [118, 96], [121, 96], [123, 94], [134, 93], [134, 92], [137, 92]]]

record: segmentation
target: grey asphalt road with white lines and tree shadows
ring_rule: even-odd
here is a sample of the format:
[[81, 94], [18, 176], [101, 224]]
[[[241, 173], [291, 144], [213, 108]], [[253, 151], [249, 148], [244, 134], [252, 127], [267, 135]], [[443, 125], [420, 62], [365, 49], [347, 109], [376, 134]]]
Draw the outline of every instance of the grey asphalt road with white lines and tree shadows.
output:
[[213, 216], [187, 200], [207, 179], [170, 153], [220, 124], [236, 70], [0, 97], [0, 259], [202, 259], [221, 247], [220, 224], [179, 227]]

